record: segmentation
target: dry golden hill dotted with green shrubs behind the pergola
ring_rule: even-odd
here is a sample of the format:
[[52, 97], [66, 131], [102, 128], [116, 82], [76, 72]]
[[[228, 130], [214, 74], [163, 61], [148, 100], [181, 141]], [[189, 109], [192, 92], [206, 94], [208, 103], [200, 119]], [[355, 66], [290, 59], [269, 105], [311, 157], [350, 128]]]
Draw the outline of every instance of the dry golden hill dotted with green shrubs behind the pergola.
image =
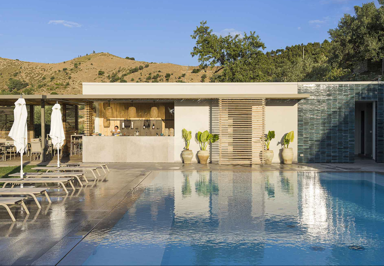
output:
[[[82, 82], [209, 82], [213, 71], [192, 73], [194, 68], [197, 66], [134, 61], [109, 53], [94, 53], [55, 64], [0, 58], [0, 91], [2, 94], [81, 94]], [[10, 92], [9, 86], [16, 89]]]

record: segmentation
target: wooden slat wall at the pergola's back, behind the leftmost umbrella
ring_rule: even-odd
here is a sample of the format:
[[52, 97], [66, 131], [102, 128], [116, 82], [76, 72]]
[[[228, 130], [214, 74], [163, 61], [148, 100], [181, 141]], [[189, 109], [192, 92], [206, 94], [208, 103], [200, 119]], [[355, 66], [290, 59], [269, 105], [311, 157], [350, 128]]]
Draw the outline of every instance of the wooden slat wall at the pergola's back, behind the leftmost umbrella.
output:
[[[13, 125], [13, 110], [15, 106], [0, 106], [0, 138], [12, 140], [8, 137], [9, 131]], [[28, 129], [28, 142], [31, 142], [32, 138], [35, 138], [35, 128], [33, 126], [34, 108], [33, 105], [27, 105], [26, 110], [28, 112], [27, 117], [27, 129]]]

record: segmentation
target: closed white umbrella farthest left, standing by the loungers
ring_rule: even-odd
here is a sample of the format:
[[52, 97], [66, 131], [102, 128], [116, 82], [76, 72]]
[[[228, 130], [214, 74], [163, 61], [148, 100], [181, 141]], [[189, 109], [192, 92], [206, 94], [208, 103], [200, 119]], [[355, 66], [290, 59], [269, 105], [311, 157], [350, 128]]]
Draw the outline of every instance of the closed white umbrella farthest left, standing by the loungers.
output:
[[[28, 129], [26, 126], [26, 119], [28, 113], [26, 111], [25, 100], [18, 99], [15, 102], [15, 110], [13, 110], [13, 125], [8, 136], [14, 140], [16, 151], [20, 152], [20, 178], [23, 178], [23, 153], [26, 152], [28, 145]], [[22, 185], [21, 185], [22, 186]]]

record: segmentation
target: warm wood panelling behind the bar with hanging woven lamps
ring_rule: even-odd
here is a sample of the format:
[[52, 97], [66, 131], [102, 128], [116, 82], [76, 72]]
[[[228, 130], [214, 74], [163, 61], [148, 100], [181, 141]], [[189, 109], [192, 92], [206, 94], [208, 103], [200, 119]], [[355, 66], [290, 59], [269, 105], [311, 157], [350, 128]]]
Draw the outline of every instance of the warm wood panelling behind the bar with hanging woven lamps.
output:
[[[100, 103], [99, 105], [99, 133], [103, 135], [111, 135], [111, 130], [114, 129], [115, 125], [119, 125], [119, 120], [129, 120], [128, 108], [132, 106], [131, 102], [126, 103], [114, 103], [111, 102], [110, 106], [113, 108], [113, 118], [110, 118], [110, 125], [108, 128], [104, 128], [103, 120], [105, 117], [105, 108], [108, 107], [108, 102]], [[133, 106], [136, 108], [136, 119], [149, 119], [151, 107], [156, 106], [159, 114], [157, 115], [158, 119], [163, 121], [162, 128], [164, 133], [164, 128], [175, 128], [174, 116], [172, 116], [168, 107], [173, 109], [174, 103], [133, 103]], [[142, 125], [141, 125], [142, 127]]]

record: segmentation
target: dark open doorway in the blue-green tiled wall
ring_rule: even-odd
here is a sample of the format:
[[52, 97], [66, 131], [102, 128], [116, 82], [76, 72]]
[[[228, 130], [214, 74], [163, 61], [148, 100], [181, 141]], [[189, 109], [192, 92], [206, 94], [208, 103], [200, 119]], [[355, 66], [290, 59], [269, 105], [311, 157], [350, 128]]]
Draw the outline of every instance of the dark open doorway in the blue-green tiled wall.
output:
[[374, 102], [355, 103], [355, 155], [373, 158], [374, 153]]

